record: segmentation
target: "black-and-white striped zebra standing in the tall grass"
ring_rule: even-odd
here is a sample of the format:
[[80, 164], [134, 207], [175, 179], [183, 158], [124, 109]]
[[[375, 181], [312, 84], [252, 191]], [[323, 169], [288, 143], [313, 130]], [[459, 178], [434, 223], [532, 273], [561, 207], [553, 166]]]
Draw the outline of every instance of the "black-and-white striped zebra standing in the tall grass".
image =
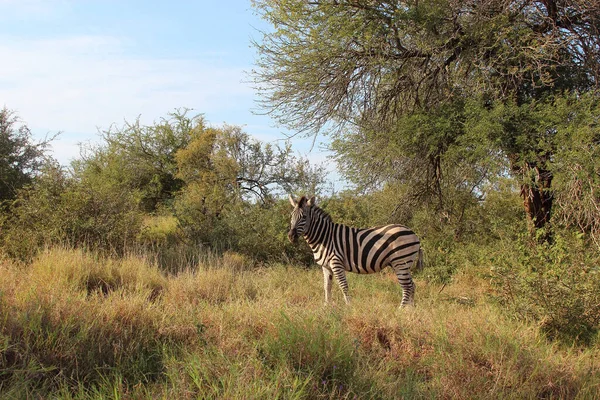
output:
[[294, 210], [288, 239], [296, 243], [302, 235], [310, 246], [323, 269], [326, 304], [331, 299], [334, 276], [349, 304], [346, 271], [371, 274], [391, 266], [402, 286], [400, 307], [414, 306], [415, 283], [410, 267], [417, 257], [417, 267], [423, 266], [423, 250], [413, 231], [402, 225], [359, 229], [337, 224], [315, 204], [314, 196], [308, 200], [302, 196], [298, 201], [291, 195], [289, 198]]

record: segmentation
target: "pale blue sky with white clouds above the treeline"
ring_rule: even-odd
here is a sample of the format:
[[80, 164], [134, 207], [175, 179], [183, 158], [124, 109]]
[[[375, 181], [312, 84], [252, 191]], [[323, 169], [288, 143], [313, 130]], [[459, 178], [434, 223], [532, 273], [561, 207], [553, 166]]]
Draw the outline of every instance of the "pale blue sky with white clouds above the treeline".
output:
[[[38, 138], [61, 131], [52, 147], [63, 164], [98, 130], [181, 107], [277, 142], [293, 132], [256, 114], [257, 29], [269, 26], [250, 0], [0, 0], [0, 107]], [[311, 144], [292, 140], [298, 154], [325, 161]]]

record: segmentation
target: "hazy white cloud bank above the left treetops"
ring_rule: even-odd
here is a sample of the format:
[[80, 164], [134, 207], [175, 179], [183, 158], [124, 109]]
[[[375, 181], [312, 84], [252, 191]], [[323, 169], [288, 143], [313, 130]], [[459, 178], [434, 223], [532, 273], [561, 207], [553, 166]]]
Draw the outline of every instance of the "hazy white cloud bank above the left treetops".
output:
[[108, 36], [5, 38], [0, 106], [16, 110], [34, 131], [80, 132], [81, 141], [94, 137], [97, 127], [139, 115], [151, 122], [179, 107], [209, 119], [236, 110], [251, 115], [253, 91], [242, 83], [244, 68], [202, 59], [132, 58], [126, 45]]

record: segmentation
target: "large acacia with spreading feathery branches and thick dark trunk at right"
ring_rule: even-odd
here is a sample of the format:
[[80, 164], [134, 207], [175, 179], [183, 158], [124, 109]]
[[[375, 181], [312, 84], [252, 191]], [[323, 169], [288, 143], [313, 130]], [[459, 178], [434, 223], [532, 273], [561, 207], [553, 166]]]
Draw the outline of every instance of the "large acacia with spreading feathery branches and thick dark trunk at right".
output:
[[[361, 146], [375, 144], [376, 154], [395, 135], [410, 138], [398, 129], [407, 116], [427, 118], [474, 100], [475, 115], [465, 109], [461, 118], [487, 120], [492, 129], [478, 141], [508, 160], [534, 226], [548, 222], [556, 126], [547, 111], [565, 91], [598, 88], [597, 2], [256, 0], [254, 6], [274, 27], [255, 43], [255, 77], [263, 105], [279, 122], [313, 134], [334, 128], [338, 143], [356, 138], [340, 135], [350, 127], [373, 139]], [[417, 135], [425, 145], [415, 140], [419, 151], [389, 164], [402, 174], [410, 165], [402, 159], [418, 156], [439, 186], [444, 153], [464, 145], [468, 133]], [[375, 172], [381, 161], [362, 158]]]

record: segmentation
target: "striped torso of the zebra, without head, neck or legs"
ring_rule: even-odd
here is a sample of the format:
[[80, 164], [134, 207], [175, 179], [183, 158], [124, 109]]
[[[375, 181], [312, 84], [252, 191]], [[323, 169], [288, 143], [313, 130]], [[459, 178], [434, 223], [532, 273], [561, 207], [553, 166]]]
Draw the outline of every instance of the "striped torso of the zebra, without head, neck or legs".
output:
[[334, 245], [346, 270], [359, 274], [412, 260], [420, 248], [417, 235], [402, 225], [357, 229], [336, 224]]

